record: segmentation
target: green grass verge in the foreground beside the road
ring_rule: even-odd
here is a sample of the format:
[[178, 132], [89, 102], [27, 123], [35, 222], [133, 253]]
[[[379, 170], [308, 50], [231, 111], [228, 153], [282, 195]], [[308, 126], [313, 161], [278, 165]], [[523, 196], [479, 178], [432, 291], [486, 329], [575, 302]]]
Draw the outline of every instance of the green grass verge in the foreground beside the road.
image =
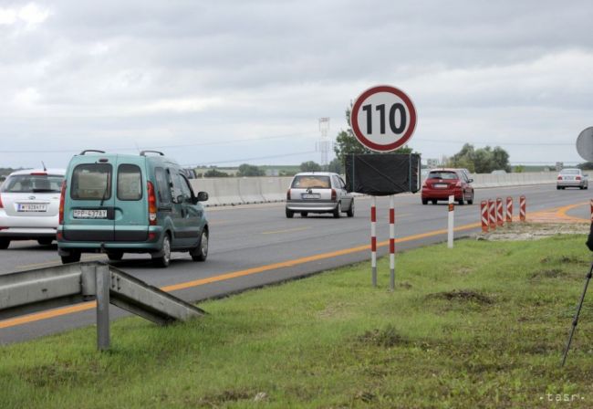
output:
[[205, 302], [207, 317], [168, 328], [118, 320], [104, 353], [94, 328], [8, 345], [0, 406], [591, 407], [590, 294], [560, 367], [584, 241], [412, 250], [394, 292], [381, 259], [379, 288], [364, 263]]

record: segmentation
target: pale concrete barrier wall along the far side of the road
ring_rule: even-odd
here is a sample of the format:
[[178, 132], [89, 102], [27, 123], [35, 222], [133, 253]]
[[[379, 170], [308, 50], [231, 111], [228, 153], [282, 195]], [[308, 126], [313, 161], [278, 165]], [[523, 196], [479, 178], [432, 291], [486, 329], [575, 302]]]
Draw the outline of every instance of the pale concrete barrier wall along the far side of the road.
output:
[[[521, 186], [529, 184], [552, 184], [557, 173], [506, 173], [473, 174], [473, 187], [476, 189], [502, 186]], [[192, 179], [194, 192], [208, 192], [210, 199], [206, 205], [248, 205], [255, 203], [282, 202], [292, 177], [223, 177]]]

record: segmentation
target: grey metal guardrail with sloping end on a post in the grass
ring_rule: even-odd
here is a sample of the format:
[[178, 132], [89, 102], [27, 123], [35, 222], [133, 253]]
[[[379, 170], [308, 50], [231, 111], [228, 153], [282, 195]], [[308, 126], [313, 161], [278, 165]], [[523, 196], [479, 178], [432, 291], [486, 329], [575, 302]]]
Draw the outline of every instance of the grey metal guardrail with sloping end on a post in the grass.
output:
[[0, 276], [0, 320], [97, 300], [97, 346], [109, 349], [109, 304], [166, 325], [205, 314], [182, 299], [102, 262], [39, 268]]

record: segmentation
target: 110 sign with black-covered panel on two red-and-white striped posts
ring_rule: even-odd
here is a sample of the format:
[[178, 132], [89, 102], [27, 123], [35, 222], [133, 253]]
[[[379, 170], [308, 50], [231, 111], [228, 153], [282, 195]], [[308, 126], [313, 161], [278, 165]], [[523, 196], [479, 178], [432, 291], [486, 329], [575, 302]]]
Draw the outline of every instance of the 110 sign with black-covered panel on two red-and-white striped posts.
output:
[[[393, 152], [409, 142], [416, 128], [416, 108], [401, 89], [379, 85], [363, 91], [352, 105], [350, 126], [357, 140], [374, 152]], [[395, 196], [416, 193], [421, 183], [418, 154], [351, 154], [346, 157], [349, 192], [369, 194], [370, 267], [377, 287], [377, 201], [390, 196], [390, 288], [395, 289]]]

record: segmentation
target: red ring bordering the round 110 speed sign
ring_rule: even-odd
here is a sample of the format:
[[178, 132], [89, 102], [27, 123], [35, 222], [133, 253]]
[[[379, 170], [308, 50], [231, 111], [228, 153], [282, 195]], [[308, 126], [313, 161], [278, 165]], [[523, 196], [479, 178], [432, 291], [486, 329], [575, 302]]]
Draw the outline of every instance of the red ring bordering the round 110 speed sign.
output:
[[[379, 92], [389, 92], [390, 94], [399, 97], [405, 104], [406, 110], [410, 114], [410, 124], [408, 125], [408, 129], [404, 132], [401, 138], [398, 139], [396, 142], [388, 143], [385, 145], [369, 141], [365, 134], [362, 131], [360, 131], [359, 127], [360, 106], [370, 96], [377, 94]], [[352, 107], [352, 111], [350, 112], [350, 125], [352, 126], [352, 131], [354, 132], [354, 136], [356, 136], [356, 139], [358, 139], [360, 143], [362, 143], [370, 150], [378, 152], [395, 151], [396, 149], [404, 145], [406, 142], [410, 141], [411, 135], [414, 133], [414, 129], [416, 128], [416, 108], [414, 107], [414, 104], [412, 103], [410, 97], [408, 97], [405, 94], [405, 92], [403, 92], [401, 89], [391, 87], [390, 85], [380, 85], [377, 87], [372, 87], [360, 94], [359, 98], [356, 100], [356, 102], [354, 102], [354, 106]]]

